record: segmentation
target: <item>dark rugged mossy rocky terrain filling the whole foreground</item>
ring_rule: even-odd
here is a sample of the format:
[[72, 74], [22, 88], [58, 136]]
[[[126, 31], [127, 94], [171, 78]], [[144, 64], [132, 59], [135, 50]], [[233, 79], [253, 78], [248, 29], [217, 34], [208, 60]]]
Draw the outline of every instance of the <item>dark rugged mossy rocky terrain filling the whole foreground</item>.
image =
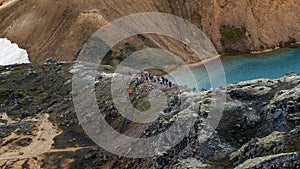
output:
[[[115, 108], [110, 76], [97, 76], [96, 97], [105, 119], [117, 131], [134, 137], [156, 135], [192, 106], [197, 120], [187, 137], [159, 156], [123, 158], [98, 147], [81, 128], [72, 103], [72, 64], [48, 59], [43, 65], [0, 67], [1, 168], [242, 168], [300, 167], [300, 76], [257, 79], [225, 89], [192, 91], [143, 83], [133, 88], [132, 104], [149, 107], [144, 98], [154, 88], [167, 93], [159, 119], [145, 125], [124, 119]], [[103, 66], [99, 71], [113, 72]], [[71, 71], [72, 72], [72, 71]], [[181, 90], [179, 90], [181, 89]], [[201, 140], [212, 96], [226, 92], [218, 128]], [[139, 96], [139, 98], [137, 97]], [[178, 129], [178, 132], [181, 130]]]

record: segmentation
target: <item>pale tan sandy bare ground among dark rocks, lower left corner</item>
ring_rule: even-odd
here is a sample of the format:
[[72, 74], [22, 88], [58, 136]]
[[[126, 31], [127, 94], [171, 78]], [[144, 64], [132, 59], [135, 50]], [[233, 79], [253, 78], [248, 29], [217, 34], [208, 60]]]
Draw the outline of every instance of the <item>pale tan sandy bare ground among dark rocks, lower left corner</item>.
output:
[[[2, 120], [7, 120], [8, 124], [15, 123], [17, 121], [9, 118], [6, 113], [2, 113]], [[40, 168], [40, 161], [44, 158], [44, 153], [55, 153], [55, 152], [75, 152], [77, 150], [89, 147], [70, 147], [65, 149], [52, 149], [53, 139], [57, 135], [61, 134], [62, 131], [58, 129], [56, 125], [51, 123], [48, 114], [43, 114], [37, 118], [27, 118], [24, 121], [34, 122], [37, 129], [31, 136], [28, 135], [17, 135], [13, 132], [10, 136], [4, 138], [2, 143], [6, 141], [16, 139], [16, 141], [23, 138], [31, 138], [32, 142], [26, 147], [20, 147], [13, 143], [1, 145], [0, 148], [0, 166], [13, 166], [14, 168], [21, 168], [26, 162], [30, 168]], [[16, 142], [14, 141], [14, 142]], [[65, 159], [65, 167], [71, 163], [72, 160]]]

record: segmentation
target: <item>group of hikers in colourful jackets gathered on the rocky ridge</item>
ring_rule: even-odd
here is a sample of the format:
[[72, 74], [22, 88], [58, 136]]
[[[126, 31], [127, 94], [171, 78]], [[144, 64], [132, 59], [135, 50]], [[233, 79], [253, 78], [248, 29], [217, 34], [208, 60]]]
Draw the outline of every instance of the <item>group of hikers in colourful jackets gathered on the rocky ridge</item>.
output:
[[138, 74], [138, 77], [135, 78], [134, 80], [134, 84], [137, 87], [141, 82], [143, 81], [151, 81], [154, 83], [160, 83], [162, 86], [166, 86], [166, 87], [172, 87], [172, 81], [169, 80], [166, 77], [163, 76], [159, 76], [159, 75], [152, 75], [152, 73], [148, 72], [148, 71], [141, 71]]

